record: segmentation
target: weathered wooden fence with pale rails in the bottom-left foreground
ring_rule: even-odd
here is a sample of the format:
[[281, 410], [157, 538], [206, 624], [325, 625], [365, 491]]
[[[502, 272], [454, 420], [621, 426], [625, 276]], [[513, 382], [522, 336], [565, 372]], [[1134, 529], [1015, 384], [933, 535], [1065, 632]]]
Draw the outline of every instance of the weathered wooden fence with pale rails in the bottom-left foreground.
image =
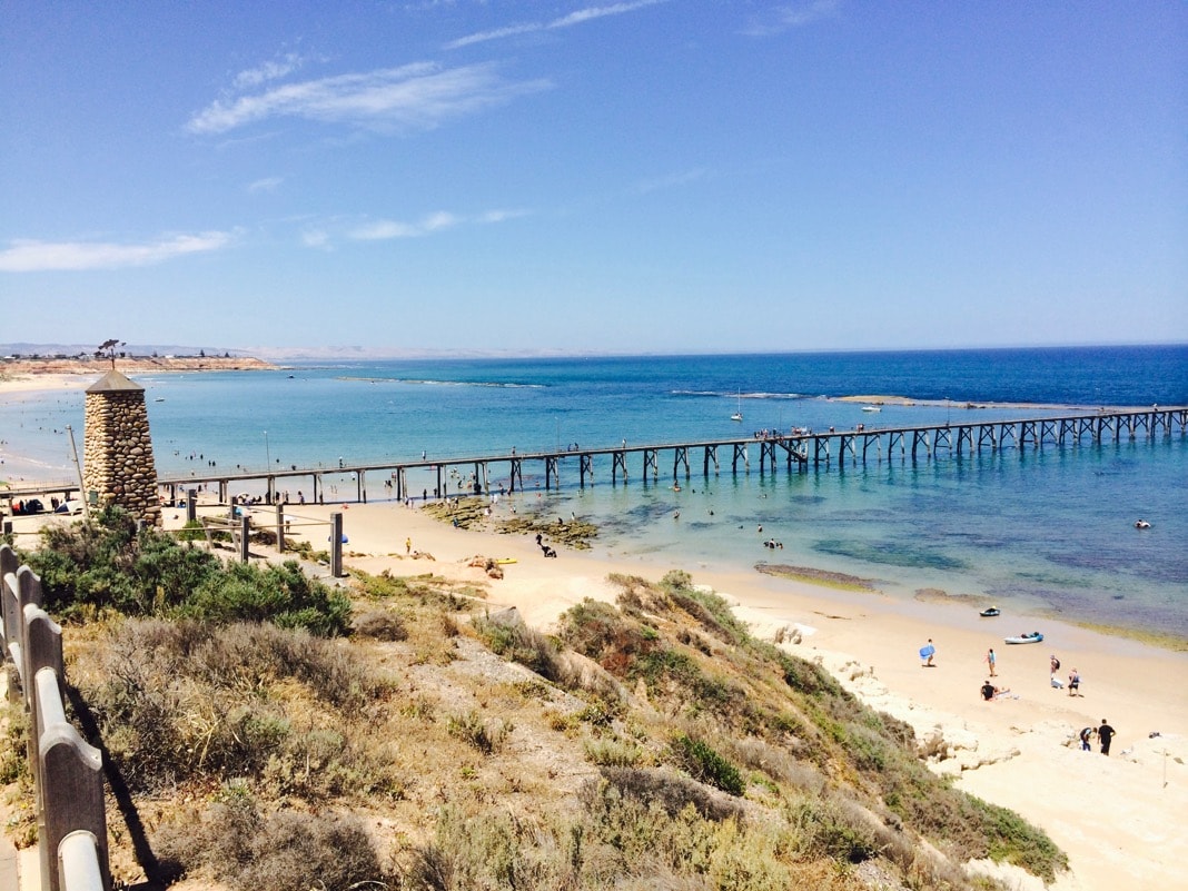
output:
[[67, 720], [62, 627], [42, 608], [40, 579], [17, 563], [17, 552], [0, 545], [5, 655], [30, 716], [42, 887], [110, 891], [103, 759]]

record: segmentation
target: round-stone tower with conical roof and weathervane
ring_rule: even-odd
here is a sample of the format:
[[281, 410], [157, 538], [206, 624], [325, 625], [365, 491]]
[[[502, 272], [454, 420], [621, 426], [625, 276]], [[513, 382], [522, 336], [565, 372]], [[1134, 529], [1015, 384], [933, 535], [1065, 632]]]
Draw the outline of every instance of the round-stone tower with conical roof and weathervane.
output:
[[113, 368], [87, 387], [83, 425], [83, 498], [160, 525], [145, 388]]

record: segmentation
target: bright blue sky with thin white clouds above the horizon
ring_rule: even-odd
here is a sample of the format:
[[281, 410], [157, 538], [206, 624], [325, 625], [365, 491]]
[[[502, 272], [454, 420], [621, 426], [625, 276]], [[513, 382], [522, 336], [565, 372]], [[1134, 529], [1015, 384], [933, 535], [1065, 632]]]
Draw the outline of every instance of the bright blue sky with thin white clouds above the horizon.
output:
[[0, 339], [1188, 342], [1188, 4], [11, 0]]

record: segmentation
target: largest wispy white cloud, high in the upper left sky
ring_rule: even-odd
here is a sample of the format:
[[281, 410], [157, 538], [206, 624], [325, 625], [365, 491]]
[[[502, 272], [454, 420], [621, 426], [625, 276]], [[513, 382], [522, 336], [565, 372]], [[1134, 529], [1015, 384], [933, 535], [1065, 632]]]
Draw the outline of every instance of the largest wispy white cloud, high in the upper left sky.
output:
[[548, 81], [508, 81], [493, 64], [442, 69], [429, 62], [287, 83], [215, 101], [187, 124], [191, 133], [226, 133], [270, 118], [360, 127], [432, 128], [443, 120], [548, 89]]

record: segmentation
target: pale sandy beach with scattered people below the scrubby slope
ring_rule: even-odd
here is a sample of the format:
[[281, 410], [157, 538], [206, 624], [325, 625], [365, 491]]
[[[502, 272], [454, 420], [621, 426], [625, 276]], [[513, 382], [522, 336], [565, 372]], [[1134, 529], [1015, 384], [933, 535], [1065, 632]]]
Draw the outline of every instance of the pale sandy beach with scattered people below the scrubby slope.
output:
[[[84, 386], [88, 377], [55, 375], [29, 388]], [[26, 381], [0, 381], [0, 397]], [[203, 512], [226, 507], [203, 507]], [[343, 514], [345, 563], [367, 573], [434, 573], [486, 590], [494, 608], [516, 606], [529, 624], [548, 628], [584, 598], [613, 600], [613, 573], [657, 580], [687, 569], [697, 583], [727, 598], [758, 637], [798, 631], [788, 649], [817, 659], [873, 707], [912, 725], [942, 753], [937, 771], [962, 789], [1009, 807], [1044, 827], [1069, 855], [1059, 891], [1182, 886], [1188, 838], [1188, 653], [1171, 652], [1078, 626], [1009, 613], [982, 619], [969, 605], [895, 600], [878, 592], [810, 584], [753, 570], [699, 573], [659, 558], [626, 558], [595, 548], [542, 556], [531, 536], [454, 529], [397, 503], [289, 505], [290, 535], [316, 550], [328, 543], [329, 517]], [[511, 503], [495, 507], [511, 516]], [[276, 508], [257, 508], [257, 523], [274, 523]], [[166, 508], [166, 527], [184, 510]], [[64, 518], [17, 517], [18, 544], [34, 546], [36, 527]], [[406, 541], [409, 545], [406, 548]], [[406, 550], [409, 552], [406, 552]], [[473, 557], [500, 558], [504, 577], [488, 579]], [[1003, 638], [1041, 627], [1042, 644], [1011, 646]], [[920, 647], [931, 639], [935, 665], [922, 666]], [[986, 652], [997, 653], [993, 682], [1010, 693], [992, 702], [979, 695], [987, 680]], [[1081, 695], [1050, 682], [1076, 668]], [[1110, 757], [1080, 751], [1076, 734], [1102, 719], [1117, 729]], [[1006, 873], [1004, 873], [1006, 874]], [[1038, 879], [1009, 873], [1013, 886], [1040, 889]]]

